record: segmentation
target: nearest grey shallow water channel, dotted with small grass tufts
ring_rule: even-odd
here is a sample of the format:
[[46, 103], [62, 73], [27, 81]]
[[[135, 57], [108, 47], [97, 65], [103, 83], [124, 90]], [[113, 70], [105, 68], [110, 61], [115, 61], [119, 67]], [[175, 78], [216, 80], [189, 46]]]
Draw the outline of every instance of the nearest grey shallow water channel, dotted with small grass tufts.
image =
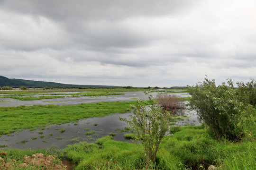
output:
[[[183, 117], [177, 124], [180, 126], [185, 125], [199, 125], [200, 122], [197, 119], [195, 111], [183, 110], [178, 112]], [[61, 125], [51, 125], [46, 126], [44, 130], [37, 129], [34, 131], [24, 130], [21, 132], [13, 133], [6, 136], [0, 137], [0, 144], [7, 145], [6, 148], [17, 148], [17, 149], [46, 149], [46, 148], [56, 148], [61, 149], [66, 147], [68, 144], [76, 144], [80, 141], [94, 142], [98, 138], [107, 136], [109, 133], [116, 133], [114, 140], [131, 142], [125, 139], [124, 134], [129, 132], [119, 132], [116, 130], [124, 129], [127, 127], [127, 123], [120, 121], [119, 117], [129, 118], [132, 113], [124, 114], [113, 114], [101, 118], [89, 118], [82, 119], [78, 122], [66, 123]], [[95, 126], [97, 124], [97, 126]], [[65, 132], [61, 133], [60, 129], [64, 129]], [[94, 130], [95, 133], [87, 135], [86, 133]], [[39, 134], [38, 132], [42, 133]], [[41, 137], [40, 137], [41, 136]], [[44, 137], [43, 137], [44, 136]], [[37, 139], [32, 139], [37, 138]]]

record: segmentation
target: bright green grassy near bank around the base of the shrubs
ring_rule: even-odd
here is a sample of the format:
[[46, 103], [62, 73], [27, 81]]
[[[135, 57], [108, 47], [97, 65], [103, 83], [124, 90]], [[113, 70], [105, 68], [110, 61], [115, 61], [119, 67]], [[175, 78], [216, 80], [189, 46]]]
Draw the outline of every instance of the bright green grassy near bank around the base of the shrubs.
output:
[[[75, 170], [142, 170], [143, 150], [139, 144], [112, 140], [105, 136], [95, 143], [81, 142], [63, 150], [22, 151], [6, 149], [6, 160], [27, 154], [44, 153], [67, 157], [76, 164]], [[157, 153], [155, 170], [207, 170], [210, 165], [219, 170], [256, 170], [256, 143], [243, 140], [230, 143], [217, 141], [204, 126], [180, 127], [174, 135], [166, 136]]]

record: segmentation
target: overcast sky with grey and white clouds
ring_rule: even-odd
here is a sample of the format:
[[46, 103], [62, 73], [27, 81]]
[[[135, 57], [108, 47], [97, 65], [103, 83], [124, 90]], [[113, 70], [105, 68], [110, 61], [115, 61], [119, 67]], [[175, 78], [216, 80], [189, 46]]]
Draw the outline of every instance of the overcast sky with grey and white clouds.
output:
[[256, 79], [256, 0], [0, 0], [0, 76], [171, 87]]

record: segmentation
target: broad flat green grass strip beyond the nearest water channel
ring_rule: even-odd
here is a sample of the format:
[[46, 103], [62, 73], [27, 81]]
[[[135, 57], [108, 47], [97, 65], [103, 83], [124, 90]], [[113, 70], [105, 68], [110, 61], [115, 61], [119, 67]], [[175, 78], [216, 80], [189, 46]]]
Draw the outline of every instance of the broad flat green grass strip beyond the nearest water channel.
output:
[[0, 107], [0, 135], [24, 129], [34, 130], [46, 125], [75, 122], [80, 119], [104, 117], [130, 111], [135, 102], [99, 102], [79, 105], [34, 105]]

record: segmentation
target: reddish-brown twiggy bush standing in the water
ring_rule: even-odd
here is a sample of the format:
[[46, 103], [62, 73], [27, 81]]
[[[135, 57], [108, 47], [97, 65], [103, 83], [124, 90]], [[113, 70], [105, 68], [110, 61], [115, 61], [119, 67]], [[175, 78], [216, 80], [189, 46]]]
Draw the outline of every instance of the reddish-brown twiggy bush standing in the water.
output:
[[167, 93], [160, 93], [156, 96], [156, 101], [164, 110], [184, 109], [185, 105], [183, 101], [177, 97], [177, 95], [170, 95]]

